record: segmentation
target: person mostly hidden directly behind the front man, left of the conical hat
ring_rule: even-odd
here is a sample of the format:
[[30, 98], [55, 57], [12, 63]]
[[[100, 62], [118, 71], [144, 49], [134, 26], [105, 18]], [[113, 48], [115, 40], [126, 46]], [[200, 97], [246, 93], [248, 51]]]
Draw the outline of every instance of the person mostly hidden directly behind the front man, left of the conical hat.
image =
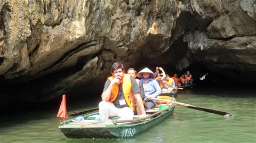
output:
[[[141, 96], [141, 99], [137, 100], [136, 103], [138, 104], [138, 102], [142, 102], [142, 99], [145, 100], [147, 99], [147, 97], [145, 96], [145, 92], [144, 92], [144, 89], [143, 89], [143, 85], [142, 85], [142, 82], [139, 80], [139, 79], [136, 79], [137, 77], [137, 71], [134, 69], [134, 68], [129, 68], [127, 70], [127, 74], [130, 74], [138, 83], [139, 87], [140, 87], [140, 96]], [[142, 104], [144, 104], [142, 102]], [[140, 108], [139, 108], [140, 107]], [[144, 106], [136, 106], [136, 111], [137, 111], [137, 114], [138, 115], [143, 115], [143, 114], [146, 114], [145, 112], [145, 108]]]

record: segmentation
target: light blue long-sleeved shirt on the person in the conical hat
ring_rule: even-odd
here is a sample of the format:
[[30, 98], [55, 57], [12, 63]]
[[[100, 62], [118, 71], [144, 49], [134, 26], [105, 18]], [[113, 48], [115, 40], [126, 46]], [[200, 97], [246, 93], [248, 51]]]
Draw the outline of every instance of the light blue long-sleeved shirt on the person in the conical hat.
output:
[[156, 80], [150, 78], [147, 83], [143, 79], [140, 79], [140, 81], [142, 82], [146, 97], [156, 98], [162, 93], [161, 87]]

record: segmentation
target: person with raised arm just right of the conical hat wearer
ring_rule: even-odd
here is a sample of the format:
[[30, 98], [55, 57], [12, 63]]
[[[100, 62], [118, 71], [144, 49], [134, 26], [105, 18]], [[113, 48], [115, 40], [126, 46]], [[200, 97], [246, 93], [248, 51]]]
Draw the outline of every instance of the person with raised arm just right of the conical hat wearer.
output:
[[[161, 74], [159, 73], [159, 70], [162, 71]], [[161, 87], [162, 92], [167, 92], [167, 89], [166, 89], [165, 84], [164, 84], [164, 80], [166, 78], [166, 74], [165, 74], [163, 68], [156, 67], [155, 75], [156, 75], [156, 77], [154, 79], [158, 82], [159, 86]]]

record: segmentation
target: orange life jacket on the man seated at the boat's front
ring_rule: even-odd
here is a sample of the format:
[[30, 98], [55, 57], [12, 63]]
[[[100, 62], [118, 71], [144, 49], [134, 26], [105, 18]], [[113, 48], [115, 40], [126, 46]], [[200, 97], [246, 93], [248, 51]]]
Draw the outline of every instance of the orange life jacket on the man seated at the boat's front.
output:
[[[114, 77], [109, 77], [108, 78], [110, 81], [113, 81]], [[114, 102], [118, 96], [118, 91], [119, 91], [119, 85], [115, 83], [111, 90], [111, 95], [108, 99], [109, 102]], [[132, 108], [132, 110], [135, 110], [135, 98], [132, 92], [132, 82], [131, 82], [131, 75], [130, 74], [124, 74], [123, 77], [123, 94], [126, 103], [128, 104], [129, 107]]]

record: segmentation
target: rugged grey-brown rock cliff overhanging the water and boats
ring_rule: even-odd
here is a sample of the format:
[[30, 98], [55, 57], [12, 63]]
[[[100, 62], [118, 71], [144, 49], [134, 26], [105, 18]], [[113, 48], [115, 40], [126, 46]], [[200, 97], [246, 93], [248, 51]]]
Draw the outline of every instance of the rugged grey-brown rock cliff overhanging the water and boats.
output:
[[116, 61], [256, 79], [256, 1], [1, 0], [0, 12], [1, 105], [90, 94]]

